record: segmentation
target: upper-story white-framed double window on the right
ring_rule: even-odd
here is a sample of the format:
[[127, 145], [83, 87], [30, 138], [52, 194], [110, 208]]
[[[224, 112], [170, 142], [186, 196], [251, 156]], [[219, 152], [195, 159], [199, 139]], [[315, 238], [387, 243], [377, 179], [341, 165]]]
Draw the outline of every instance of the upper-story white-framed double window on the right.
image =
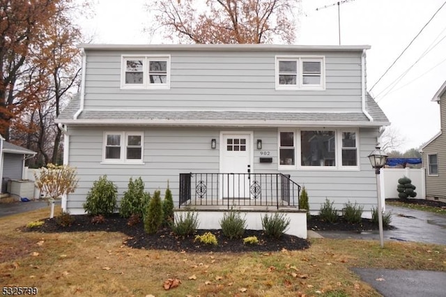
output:
[[276, 89], [325, 89], [323, 57], [276, 56]]

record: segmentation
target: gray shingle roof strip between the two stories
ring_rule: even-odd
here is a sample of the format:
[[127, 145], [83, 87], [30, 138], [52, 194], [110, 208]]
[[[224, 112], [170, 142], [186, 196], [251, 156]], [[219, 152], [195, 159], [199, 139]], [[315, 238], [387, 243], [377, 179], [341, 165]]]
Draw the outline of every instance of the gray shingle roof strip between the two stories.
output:
[[[57, 122], [73, 123], [73, 115], [79, 110], [79, 96], [71, 100], [68, 106], [63, 109], [59, 115]], [[371, 96], [367, 94], [367, 112], [372, 116], [377, 125], [387, 124], [389, 120], [378, 107]], [[111, 123], [125, 124], [151, 124], [151, 123], [169, 123], [187, 125], [187, 122], [199, 121], [206, 122], [206, 125], [220, 125], [222, 122], [233, 125], [243, 122], [244, 125], [261, 125], [265, 123], [351, 123], [354, 125], [364, 123], [374, 123], [369, 121], [367, 116], [362, 112], [213, 112], [213, 111], [159, 111], [159, 110], [88, 110], [84, 109], [77, 118], [78, 123], [86, 123], [87, 121], [101, 125]], [[218, 122], [218, 123], [217, 123]], [[220, 124], [219, 124], [220, 123]]]

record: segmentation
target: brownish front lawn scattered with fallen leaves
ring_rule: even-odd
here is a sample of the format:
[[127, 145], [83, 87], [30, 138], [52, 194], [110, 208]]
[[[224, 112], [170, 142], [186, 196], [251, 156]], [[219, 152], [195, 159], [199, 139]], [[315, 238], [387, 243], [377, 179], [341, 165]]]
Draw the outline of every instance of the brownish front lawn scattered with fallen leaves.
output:
[[0, 219], [3, 286], [40, 296], [380, 296], [349, 268], [446, 271], [444, 245], [312, 239], [307, 250], [174, 252], [130, 248], [119, 231], [22, 231], [48, 213]]

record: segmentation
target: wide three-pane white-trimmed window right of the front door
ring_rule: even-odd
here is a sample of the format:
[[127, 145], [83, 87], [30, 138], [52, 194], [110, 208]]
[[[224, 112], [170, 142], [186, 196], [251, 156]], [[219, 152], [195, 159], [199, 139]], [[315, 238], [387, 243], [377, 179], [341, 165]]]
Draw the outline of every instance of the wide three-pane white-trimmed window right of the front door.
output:
[[279, 169], [359, 169], [357, 130], [279, 130], [277, 138]]

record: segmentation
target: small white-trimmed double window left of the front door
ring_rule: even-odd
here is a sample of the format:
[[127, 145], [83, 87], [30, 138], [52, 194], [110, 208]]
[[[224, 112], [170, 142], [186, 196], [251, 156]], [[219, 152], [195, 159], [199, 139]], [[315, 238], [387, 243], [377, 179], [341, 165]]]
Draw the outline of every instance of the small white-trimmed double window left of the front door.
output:
[[143, 132], [105, 132], [103, 162], [141, 163]]

